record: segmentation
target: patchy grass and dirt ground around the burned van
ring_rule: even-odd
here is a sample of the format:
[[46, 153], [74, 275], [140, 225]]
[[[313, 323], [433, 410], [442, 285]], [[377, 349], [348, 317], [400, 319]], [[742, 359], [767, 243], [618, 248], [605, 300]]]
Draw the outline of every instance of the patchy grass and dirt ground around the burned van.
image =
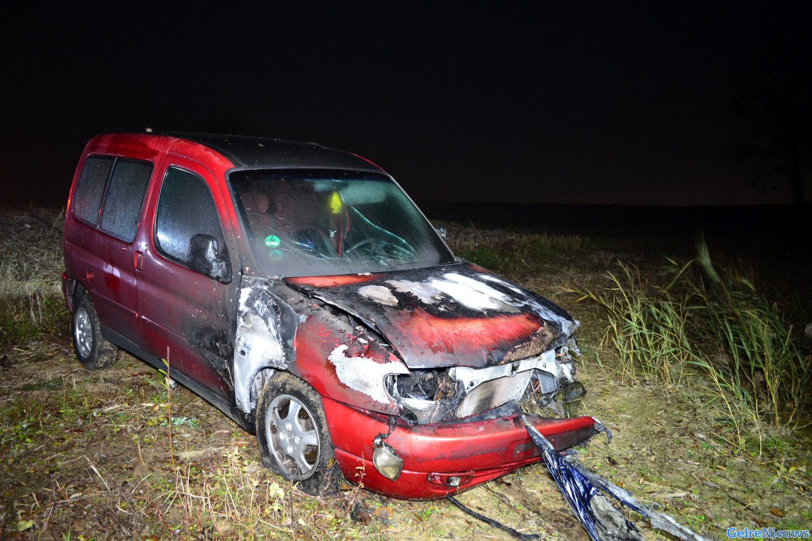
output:
[[[3, 228], [28, 222], [44, 227], [6, 214]], [[37, 238], [58, 251], [57, 232]], [[601, 283], [617, 258], [650, 257], [583, 240], [495, 269], [581, 319], [578, 378], [588, 394], [575, 413], [615, 435], [580, 448], [581, 460], [710, 539], [726, 539], [731, 526], [810, 529], [808, 431], [763, 427], [742, 452], [701, 379], [621, 383], [611, 350], [599, 346], [603, 315], [567, 292]], [[253, 436], [192, 392], [169, 391], [144, 362], [122, 353], [109, 370], [84, 370], [67, 313], [61, 325], [0, 344], [2, 539], [512, 539], [444, 500], [391, 500], [349, 485], [335, 497], [306, 496], [261, 467]], [[541, 464], [459, 500], [541, 539], [589, 539]], [[663, 537], [630, 517], [646, 539]]]

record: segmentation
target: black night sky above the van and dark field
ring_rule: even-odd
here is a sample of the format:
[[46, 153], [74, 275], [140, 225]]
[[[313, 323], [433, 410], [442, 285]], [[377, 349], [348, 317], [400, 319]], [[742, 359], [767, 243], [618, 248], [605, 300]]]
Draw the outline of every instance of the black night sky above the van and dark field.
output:
[[734, 105], [771, 36], [810, 42], [802, 3], [296, 5], [6, 12], [0, 201], [63, 204], [91, 136], [147, 126], [350, 150], [419, 200], [789, 201], [733, 160]]

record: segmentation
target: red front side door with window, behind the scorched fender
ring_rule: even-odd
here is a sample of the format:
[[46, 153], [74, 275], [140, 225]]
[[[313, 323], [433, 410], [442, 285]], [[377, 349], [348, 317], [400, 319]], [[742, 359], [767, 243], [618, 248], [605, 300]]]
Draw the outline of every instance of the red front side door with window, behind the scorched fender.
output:
[[[146, 350], [221, 396], [231, 394], [239, 279], [220, 283], [190, 268], [189, 242], [205, 234], [240, 269], [225, 202], [205, 167], [169, 155], [148, 204], [150, 227], [136, 253], [138, 305]], [[225, 226], [225, 227], [224, 227]], [[233, 273], [233, 271], [232, 271]]]

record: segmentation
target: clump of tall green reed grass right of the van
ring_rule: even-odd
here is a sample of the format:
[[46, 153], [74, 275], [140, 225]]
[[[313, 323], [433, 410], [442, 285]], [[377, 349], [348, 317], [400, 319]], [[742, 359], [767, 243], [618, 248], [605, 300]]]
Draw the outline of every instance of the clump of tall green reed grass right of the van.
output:
[[581, 297], [606, 309], [602, 345], [618, 353], [622, 378], [680, 384], [700, 369], [738, 433], [761, 421], [797, 422], [809, 403], [812, 357], [801, 353], [780, 305], [754, 285], [754, 272], [717, 269], [704, 242], [691, 262], [669, 263], [654, 280], [619, 263], [607, 288]]

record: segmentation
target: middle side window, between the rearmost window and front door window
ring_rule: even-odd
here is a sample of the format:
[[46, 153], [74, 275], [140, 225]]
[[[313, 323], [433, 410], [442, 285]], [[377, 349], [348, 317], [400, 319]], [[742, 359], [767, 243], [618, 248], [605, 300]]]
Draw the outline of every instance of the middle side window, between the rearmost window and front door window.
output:
[[103, 232], [126, 242], [136, 238], [138, 217], [150, 175], [152, 163], [120, 158], [115, 162], [102, 210]]

